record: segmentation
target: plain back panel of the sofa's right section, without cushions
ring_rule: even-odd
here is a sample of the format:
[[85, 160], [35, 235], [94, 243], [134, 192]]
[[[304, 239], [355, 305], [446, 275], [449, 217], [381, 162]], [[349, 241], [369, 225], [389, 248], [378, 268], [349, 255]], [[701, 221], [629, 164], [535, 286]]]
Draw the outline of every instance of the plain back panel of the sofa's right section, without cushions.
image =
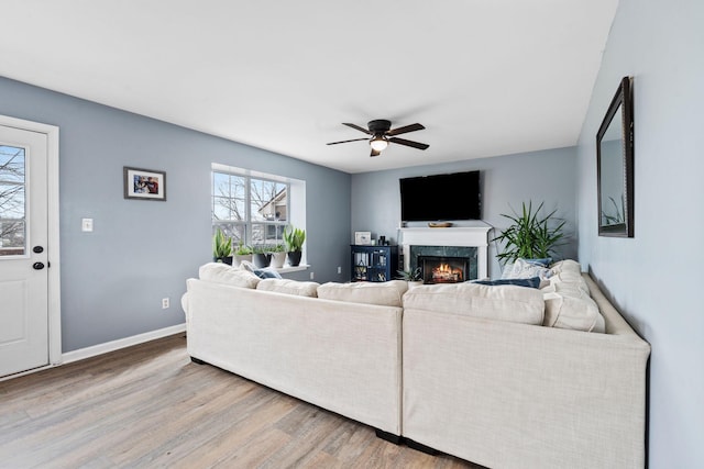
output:
[[645, 462], [649, 345], [404, 311], [404, 436], [487, 467]]

